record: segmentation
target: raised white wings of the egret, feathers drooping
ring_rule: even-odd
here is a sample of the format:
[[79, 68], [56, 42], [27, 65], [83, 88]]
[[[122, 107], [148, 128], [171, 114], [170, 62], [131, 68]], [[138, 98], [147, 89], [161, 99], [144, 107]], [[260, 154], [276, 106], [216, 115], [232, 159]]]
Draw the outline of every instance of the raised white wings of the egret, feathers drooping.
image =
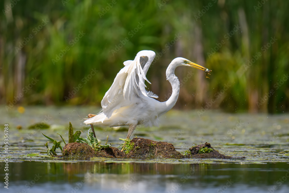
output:
[[136, 95], [157, 98], [157, 95], [145, 90], [146, 85], [144, 84], [144, 81], [147, 80], [147, 70], [154, 57], [153, 51], [143, 50], [138, 52], [134, 60], [127, 60], [123, 63], [125, 67], [118, 72], [112, 86], [101, 101], [103, 113], [108, 118], [114, 110], [129, 105]]

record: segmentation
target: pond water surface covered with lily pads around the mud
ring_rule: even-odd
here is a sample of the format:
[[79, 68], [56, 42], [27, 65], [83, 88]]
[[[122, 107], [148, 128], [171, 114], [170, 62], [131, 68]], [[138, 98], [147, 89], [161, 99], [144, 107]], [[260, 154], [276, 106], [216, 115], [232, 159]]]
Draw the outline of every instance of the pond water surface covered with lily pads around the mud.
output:
[[[68, 124], [74, 130], [93, 107], [25, 107], [2, 112], [0, 132], [9, 124], [9, 152], [0, 141], [1, 192], [289, 192], [288, 114], [228, 114], [206, 111], [169, 111], [160, 118], [160, 127], [138, 126], [133, 135], [172, 143], [184, 152], [205, 142], [221, 153], [245, 159], [92, 159], [66, 161], [43, 158], [45, 133], [68, 142]], [[35, 123], [49, 129], [28, 129]], [[20, 128], [18, 130], [16, 127]], [[96, 128], [97, 137], [117, 147], [127, 128]], [[51, 146], [51, 144], [50, 144]], [[64, 145], [63, 145], [64, 146]], [[36, 157], [27, 154], [38, 153]], [[60, 151], [58, 150], [58, 154]], [[9, 189], [4, 188], [5, 159], [9, 157]]]

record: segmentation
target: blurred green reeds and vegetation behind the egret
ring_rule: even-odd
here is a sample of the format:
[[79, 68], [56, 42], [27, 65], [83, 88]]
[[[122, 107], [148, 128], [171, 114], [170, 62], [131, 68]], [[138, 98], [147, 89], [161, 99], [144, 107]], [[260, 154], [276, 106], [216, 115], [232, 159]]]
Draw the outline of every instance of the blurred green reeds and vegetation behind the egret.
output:
[[207, 79], [203, 71], [177, 68], [176, 108], [288, 112], [288, 5], [281, 0], [2, 1], [0, 103], [99, 106], [123, 62], [148, 49], [159, 53], [147, 78], [160, 101], [170, 95], [166, 67], [184, 57], [212, 73]]

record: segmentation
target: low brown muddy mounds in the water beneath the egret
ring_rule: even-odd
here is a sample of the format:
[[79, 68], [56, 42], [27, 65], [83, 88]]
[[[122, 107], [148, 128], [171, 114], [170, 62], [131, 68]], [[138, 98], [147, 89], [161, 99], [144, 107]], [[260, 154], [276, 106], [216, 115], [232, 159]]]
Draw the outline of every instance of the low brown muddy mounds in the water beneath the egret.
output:
[[[186, 151], [184, 155], [175, 150], [173, 144], [152, 141], [144, 138], [133, 138], [129, 145], [132, 148], [127, 152], [122, 152], [115, 147], [107, 147], [95, 151], [86, 143], [69, 143], [63, 148], [61, 158], [89, 160], [91, 157], [105, 157], [105, 158], [133, 158], [133, 159], [159, 159], [159, 158], [215, 158], [215, 159], [234, 159], [230, 156], [220, 154], [214, 150], [209, 143], [194, 146]], [[244, 157], [241, 157], [244, 158]]]

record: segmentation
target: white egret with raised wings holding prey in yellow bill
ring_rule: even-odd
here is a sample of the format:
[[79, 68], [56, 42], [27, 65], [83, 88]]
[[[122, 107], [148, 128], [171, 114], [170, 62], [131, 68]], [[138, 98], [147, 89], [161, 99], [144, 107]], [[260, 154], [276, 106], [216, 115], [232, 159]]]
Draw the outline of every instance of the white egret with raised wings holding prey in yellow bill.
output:
[[166, 69], [166, 80], [172, 86], [171, 97], [165, 102], [159, 102], [154, 99], [158, 98], [158, 95], [147, 91], [144, 83], [154, 58], [155, 52], [143, 50], [138, 52], [134, 60], [125, 61], [123, 63], [125, 67], [118, 72], [101, 101], [102, 110], [97, 115], [89, 114], [84, 123], [110, 127], [128, 125], [127, 139], [129, 139], [137, 125], [158, 126], [158, 117], [175, 106], [180, 90], [180, 82], [175, 75], [178, 66], [203, 70], [209, 78], [211, 70], [185, 58], [175, 58]]

